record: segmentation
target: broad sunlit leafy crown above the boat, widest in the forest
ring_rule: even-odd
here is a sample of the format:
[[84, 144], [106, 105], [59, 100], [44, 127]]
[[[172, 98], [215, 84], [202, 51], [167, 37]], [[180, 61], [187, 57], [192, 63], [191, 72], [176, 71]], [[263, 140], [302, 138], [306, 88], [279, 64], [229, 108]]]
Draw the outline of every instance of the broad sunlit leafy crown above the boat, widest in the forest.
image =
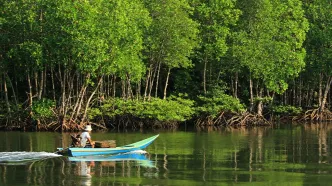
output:
[[142, 34], [150, 18], [140, 1], [59, 1], [57, 6], [77, 69], [93, 76], [141, 77]]

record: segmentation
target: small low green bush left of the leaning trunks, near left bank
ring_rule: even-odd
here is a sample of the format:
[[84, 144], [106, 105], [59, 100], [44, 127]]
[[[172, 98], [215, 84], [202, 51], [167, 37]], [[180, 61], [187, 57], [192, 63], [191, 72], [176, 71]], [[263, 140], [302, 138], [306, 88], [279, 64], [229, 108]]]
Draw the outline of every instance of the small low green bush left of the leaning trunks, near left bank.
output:
[[41, 99], [34, 101], [32, 105], [33, 119], [48, 119], [54, 116], [52, 109], [55, 102], [50, 99]]

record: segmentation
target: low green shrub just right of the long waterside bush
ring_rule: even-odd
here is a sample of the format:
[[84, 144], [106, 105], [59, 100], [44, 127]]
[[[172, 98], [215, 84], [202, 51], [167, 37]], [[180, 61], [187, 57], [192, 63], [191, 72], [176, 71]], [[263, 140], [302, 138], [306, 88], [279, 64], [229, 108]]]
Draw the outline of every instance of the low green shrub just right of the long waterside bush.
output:
[[240, 100], [225, 94], [222, 90], [215, 89], [208, 96], [198, 96], [198, 114], [207, 114], [216, 117], [220, 112], [241, 113], [245, 111], [245, 106]]

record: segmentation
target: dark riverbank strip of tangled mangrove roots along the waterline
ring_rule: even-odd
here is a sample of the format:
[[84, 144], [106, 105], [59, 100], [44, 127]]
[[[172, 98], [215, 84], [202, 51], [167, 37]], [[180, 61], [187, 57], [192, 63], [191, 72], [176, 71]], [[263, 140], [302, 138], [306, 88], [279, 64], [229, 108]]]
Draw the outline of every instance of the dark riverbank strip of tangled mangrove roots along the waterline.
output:
[[[311, 114], [309, 114], [311, 113]], [[0, 130], [5, 131], [80, 131], [86, 124], [91, 124], [96, 130], [142, 130], [142, 129], [177, 129], [184, 125], [190, 128], [209, 127], [253, 127], [253, 126], [273, 126], [275, 123], [301, 123], [330, 121], [329, 111], [317, 116], [317, 110], [308, 110], [297, 115], [272, 115], [259, 116], [254, 113], [245, 112], [242, 114], [231, 112], [220, 112], [212, 117], [211, 115], [194, 116], [184, 121], [161, 121], [158, 118], [139, 118], [134, 115], [116, 115], [114, 117], [99, 115], [86, 122], [59, 121], [36, 121], [25, 119], [25, 122], [9, 120], [6, 124], [0, 125]], [[309, 117], [311, 116], [311, 117]], [[20, 117], [18, 117], [20, 118]]]

